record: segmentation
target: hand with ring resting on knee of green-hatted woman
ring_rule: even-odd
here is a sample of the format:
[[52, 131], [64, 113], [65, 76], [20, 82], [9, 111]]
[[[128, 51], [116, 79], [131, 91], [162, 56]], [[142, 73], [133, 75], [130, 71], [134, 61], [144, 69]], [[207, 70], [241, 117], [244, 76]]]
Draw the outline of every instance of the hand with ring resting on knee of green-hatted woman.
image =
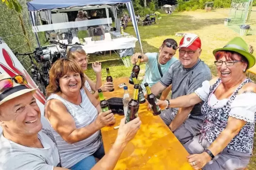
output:
[[211, 160], [211, 157], [206, 152], [203, 152], [201, 154], [192, 154], [189, 155], [187, 158], [188, 163], [192, 166], [194, 170], [202, 169]]

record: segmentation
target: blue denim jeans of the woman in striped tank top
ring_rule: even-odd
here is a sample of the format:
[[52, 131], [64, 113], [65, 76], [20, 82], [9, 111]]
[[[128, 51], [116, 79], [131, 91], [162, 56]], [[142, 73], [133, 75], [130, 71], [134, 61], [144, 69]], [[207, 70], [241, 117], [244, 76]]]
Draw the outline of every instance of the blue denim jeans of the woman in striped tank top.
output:
[[86, 158], [79, 161], [78, 163], [76, 163], [75, 165], [70, 167], [69, 169], [71, 169], [71, 170], [90, 170], [97, 163], [95, 158], [97, 157], [97, 158], [101, 159], [104, 155], [105, 155], [105, 151], [103, 148], [103, 144], [101, 144], [100, 148], [95, 153], [93, 153], [90, 156], [87, 156]]

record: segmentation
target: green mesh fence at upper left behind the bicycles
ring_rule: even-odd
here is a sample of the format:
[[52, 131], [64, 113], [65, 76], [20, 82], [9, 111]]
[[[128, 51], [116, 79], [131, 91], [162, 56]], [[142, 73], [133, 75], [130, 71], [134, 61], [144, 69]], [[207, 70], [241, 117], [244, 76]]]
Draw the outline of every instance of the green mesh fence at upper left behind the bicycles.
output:
[[[27, 0], [19, 0], [22, 6], [22, 18], [25, 29], [27, 30], [32, 49], [37, 47], [35, 34], [32, 31], [32, 25], [27, 8]], [[39, 34], [40, 43], [45, 42], [45, 35]], [[28, 52], [29, 47], [23, 35], [19, 18], [13, 9], [7, 8], [4, 3], [0, 3], [0, 37], [13, 50], [13, 52]], [[31, 64], [27, 57], [18, 57], [25, 69], [29, 69]]]

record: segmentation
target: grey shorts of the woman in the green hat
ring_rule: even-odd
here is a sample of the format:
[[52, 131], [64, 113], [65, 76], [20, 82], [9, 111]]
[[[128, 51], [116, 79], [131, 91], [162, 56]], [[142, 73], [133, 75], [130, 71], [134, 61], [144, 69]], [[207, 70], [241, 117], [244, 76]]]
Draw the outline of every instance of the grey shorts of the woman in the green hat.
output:
[[[197, 135], [183, 146], [190, 154], [200, 154], [210, 145], [211, 143], [205, 139], [199, 143], [199, 135]], [[243, 170], [248, 165], [251, 155], [252, 153], [243, 153], [225, 148], [206, 164], [203, 170]]]

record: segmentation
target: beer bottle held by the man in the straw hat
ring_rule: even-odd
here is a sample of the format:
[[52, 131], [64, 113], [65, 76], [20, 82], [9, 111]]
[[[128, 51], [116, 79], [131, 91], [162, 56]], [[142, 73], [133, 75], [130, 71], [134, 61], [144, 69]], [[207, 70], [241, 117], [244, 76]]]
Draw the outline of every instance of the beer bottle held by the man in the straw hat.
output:
[[139, 102], [138, 102], [139, 85], [134, 85], [132, 100], [128, 103], [128, 109], [125, 117], [125, 123], [128, 123], [138, 117]]

